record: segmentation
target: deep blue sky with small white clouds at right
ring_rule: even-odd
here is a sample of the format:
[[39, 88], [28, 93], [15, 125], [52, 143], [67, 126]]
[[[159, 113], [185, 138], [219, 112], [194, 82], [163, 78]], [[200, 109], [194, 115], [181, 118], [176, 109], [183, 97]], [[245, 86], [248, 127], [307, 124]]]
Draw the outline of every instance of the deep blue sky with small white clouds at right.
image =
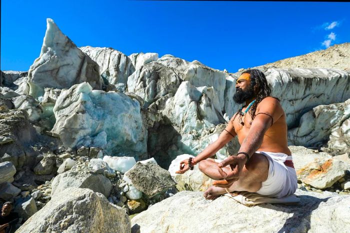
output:
[[236, 72], [349, 42], [348, 12], [349, 2], [1, 0], [1, 70], [29, 69], [48, 17], [77, 46]]

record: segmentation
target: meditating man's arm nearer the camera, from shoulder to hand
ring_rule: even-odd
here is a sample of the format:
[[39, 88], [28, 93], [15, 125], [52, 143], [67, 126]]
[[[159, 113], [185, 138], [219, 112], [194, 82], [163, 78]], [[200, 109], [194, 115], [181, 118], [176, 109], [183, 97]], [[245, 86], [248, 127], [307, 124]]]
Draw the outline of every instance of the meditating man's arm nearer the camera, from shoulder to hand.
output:
[[[261, 114], [258, 114], [263, 112]], [[252, 154], [260, 147], [263, 135], [273, 122], [277, 121], [283, 114], [283, 109], [279, 101], [273, 97], [266, 97], [259, 103], [259, 110], [255, 113], [255, 118], [251, 123], [249, 132], [244, 138], [238, 152]], [[270, 115], [270, 116], [269, 116]], [[238, 179], [240, 172], [247, 161], [244, 154], [229, 156], [218, 164], [218, 171], [225, 179]], [[221, 168], [230, 165], [232, 171], [225, 173]]]

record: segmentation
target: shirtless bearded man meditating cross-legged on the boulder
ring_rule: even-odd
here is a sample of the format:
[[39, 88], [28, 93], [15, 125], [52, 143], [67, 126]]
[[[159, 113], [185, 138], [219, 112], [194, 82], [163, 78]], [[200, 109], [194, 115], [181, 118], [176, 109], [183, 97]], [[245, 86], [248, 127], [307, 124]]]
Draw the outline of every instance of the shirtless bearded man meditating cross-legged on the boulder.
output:
[[[287, 146], [285, 113], [277, 98], [271, 97], [266, 77], [258, 69], [242, 72], [236, 80], [233, 99], [243, 103], [218, 139], [196, 157], [180, 162], [176, 173], [184, 173], [199, 162], [199, 169], [215, 179], [204, 192], [206, 199], [232, 191], [256, 192], [272, 197], [295, 192], [297, 179]], [[234, 136], [240, 148], [221, 162], [209, 157]]]

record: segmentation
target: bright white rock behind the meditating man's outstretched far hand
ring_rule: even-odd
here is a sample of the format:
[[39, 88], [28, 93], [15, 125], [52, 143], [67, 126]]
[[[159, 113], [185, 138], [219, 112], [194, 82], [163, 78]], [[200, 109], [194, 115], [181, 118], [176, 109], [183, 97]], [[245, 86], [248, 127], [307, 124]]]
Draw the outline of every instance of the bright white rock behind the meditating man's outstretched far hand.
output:
[[172, 160], [169, 166], [168, 171], [177, 182], [176, 188], [179, 191], [205, 191], [209, 186], [212, 185], [213, 180], [199, 170], [198, 164], [194, 165], [193, 170], [187, 170], [183, 174], [175, 173], [175, 171], [179, 169], [180, 161], [187, 159], [188, 157], [193, 156], [189, 154], [178, 155], [176, 159]]

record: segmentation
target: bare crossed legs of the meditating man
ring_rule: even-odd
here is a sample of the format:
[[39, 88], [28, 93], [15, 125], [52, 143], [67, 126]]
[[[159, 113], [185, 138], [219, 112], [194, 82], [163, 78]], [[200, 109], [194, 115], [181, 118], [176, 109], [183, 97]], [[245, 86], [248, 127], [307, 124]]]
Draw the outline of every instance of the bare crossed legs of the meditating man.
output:
[[[217, 162], [213, 159], [205, 159], [199, 162], [199, 170], [205, 173], [212, 179], [222, 179], [222, 176], [217, 170]], [[222, 168], [227, 172], [231, 168], [225, 166]], [[254, 153], [249, 161], [244, 165], [239, 179], [234, 181], [227, 190], [232, 191], [248, 191], [256, 192], [261, 188], [261, 182], [265, 181], [268, 176], [268, 160], [259, 153]], [[215, 199], [221, 194], [226, 193], [223, 187], [211, 186], [204, 192], [206, 199]]]

